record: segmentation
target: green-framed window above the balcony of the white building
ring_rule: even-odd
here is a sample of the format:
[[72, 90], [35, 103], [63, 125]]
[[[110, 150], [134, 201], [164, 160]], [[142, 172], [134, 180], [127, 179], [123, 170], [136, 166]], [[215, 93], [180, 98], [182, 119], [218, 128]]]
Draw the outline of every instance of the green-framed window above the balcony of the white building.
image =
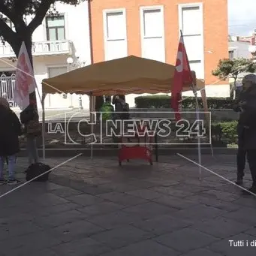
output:
[[65, 40], [65, 17], [47, 17], [47, 41]]

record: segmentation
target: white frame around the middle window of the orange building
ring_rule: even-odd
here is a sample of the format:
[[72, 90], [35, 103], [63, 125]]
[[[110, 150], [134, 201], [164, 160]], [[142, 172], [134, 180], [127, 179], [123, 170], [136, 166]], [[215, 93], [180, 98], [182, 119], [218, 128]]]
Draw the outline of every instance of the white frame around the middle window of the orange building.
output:
[[[162, 35], [160, 36], [153, 36], [153, 37], [147, 37], [144, 35], [144, 11], [158, 11], [160, 10], [161, 12], [161, 17], [162, 17], [162, 23], [163, 23], [163, 30], [162, 30]], [[147, 38], [163, 38], [164, 41], [164, 46], [165, 46], [165, 27], [164, 27], [164, 5], [150, 5], [150, 6], [141, 6], [140, 7], [140, 46], [141, 46], [141, 53], [143, 53], [143, 48], [144, 48], [144, 40]], [[164, 62], [166, 60], [166, 52], [165, 52], [165, 47], [164, 47]]]

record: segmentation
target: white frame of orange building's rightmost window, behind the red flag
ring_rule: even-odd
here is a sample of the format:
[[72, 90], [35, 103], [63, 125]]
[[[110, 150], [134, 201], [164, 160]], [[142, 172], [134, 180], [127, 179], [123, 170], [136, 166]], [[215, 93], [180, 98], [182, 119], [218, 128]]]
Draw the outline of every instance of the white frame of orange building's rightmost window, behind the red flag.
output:
[[193, 61], [201, 61], [201, 63], [203, 64], [203, 79], [205, 78], [205, 58], [204, 58], [204, 33], [203, 33], [203, 29], [204, 29], [204, 23], [203, 23], [203, 16], [204, 16], [204, 12], [203, 12], [203, 2], [197, 2], [197, 3], [191, 3], [191, 4], [181, 4], [178, 7], [178, 11], [179, 11], [179, 37], [181, 36], [181, 31], [182, 31], [182, 10], [184, 8], [199, 8], [201, 14], [202, 14], [202, 31], [201, 31], [201, 37], [202, 37], [202, 58], [198, 59], [198, 60], [193, 60]]

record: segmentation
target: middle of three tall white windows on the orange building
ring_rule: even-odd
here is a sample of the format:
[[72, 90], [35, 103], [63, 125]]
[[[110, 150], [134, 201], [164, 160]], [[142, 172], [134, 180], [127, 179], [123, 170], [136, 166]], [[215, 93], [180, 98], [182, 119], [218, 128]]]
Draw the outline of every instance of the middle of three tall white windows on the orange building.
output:
[[142, 57], [165, 62], [164, 8], [162, 6], [140, 8], [140, 32]]

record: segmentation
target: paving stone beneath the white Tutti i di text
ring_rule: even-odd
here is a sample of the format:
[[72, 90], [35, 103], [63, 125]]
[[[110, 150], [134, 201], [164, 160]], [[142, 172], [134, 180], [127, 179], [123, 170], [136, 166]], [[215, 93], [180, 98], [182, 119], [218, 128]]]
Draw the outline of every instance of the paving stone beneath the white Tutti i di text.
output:
[[[233, 241], [244, 241], [243, 246], [230, 246], [230, 240]], [[248, 240], [248, 246], [246, 246], [246, 241]], [[227, 239], [222, 239], [221, 241], [214, 242], [212, 245], [209, 245], [209, 248], [212, 251], [216, 251], [220, 254], [224, 254], [225, 256], [241, 256], [241, 255], [246, 255], [246, 256], [254, 256], [256, 247], [251, 247], [249, 246], [251, 241], [254, 241], [255, 237], [250, 236], [245, 233], [241, 233], [236, 236], [230, 236]], [[242, 245], [242, 243], [240, 244]]]

